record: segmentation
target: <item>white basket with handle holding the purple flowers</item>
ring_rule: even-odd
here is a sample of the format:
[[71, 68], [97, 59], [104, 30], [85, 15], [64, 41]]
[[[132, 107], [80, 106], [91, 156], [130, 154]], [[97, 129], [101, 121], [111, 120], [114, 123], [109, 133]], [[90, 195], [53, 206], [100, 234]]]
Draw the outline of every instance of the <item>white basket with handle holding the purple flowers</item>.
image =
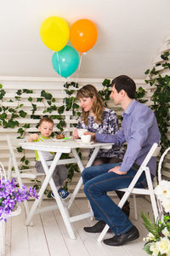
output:
[[[3, 177], [5, 180], [7, 179], [3, 164], [0, 163], [0, 178], [2, 179]], [[20, 211], [21, 208], [17, 207], [16, 210], [10, 214], [10, 217], [20, 214]], [[5, 222], [3, 220], [0, 221], [0, 256], [5, 256]]]

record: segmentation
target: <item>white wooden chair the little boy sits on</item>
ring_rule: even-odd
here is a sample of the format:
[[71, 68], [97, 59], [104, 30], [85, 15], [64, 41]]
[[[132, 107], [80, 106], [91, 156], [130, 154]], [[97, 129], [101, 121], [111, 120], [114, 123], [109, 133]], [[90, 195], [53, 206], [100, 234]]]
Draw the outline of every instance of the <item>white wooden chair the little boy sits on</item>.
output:
[[[8, 143], [8, 150], [9, 150], [9, 159], [8, 159], [8, 179], [11, 179], [11, 177], [15, 177], [20, 185], [20, 188], [22, 188], [23, 182], [22, 179], [30, 179], [34, 180], [37, 177], [38, 178], [44, 178], [45, 173], [38, 173], [36, 169], [26, 169], [26, 170], [20, 170], [17, 159], [16, 159], [16, 148], [20, 147], [21, 142], [25, 140], [23, 139], [17, 139], [15, 137], [9, 137], [7, 136], [7, 143]], [[14, 170], [12, 171], [12, 168]], [[28, 203], [27, 201], [24, 201], [25, 207], [26, 207], [26, 215], [29, 212]]]

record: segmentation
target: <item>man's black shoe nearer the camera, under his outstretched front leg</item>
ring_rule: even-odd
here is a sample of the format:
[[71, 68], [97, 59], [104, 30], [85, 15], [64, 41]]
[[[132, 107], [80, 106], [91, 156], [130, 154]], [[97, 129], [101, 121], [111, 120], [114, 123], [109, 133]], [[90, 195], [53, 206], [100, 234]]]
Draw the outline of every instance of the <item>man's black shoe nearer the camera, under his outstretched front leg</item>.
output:
[[132, 227], [131, 230], [128, 230], [127, 233], [122, 236], [113, 236], [110, 239], [105, 239], [104, 242], [107, 245], [118, 247], [125, 244], [127, 241], [133, 241], [139, 238], [139, 230], [135, 226]]

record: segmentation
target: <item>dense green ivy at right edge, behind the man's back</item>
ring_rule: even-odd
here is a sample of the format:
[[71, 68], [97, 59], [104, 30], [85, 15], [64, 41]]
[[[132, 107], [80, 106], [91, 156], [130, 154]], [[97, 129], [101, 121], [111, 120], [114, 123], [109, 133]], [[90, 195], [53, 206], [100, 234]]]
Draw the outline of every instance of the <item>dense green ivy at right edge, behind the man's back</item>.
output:
[[[149, 79], [145, 80], [146, 84], [150, 86], [155, 85], [156, 90], [152, 96], [154, 105], [152, 109], [156, 114], [157, 123], [161, 132], [161, 154], [163, 151], [170, 146], [170, 141], [167, 138], [167, 131], [170, 124], [170, 76], [165, 71], [170, 70], [170, 54], [165, 52], [161, 55], [162, 62], [158, 63], [151, 70], [148, 69], [145, 74], [148, 75]], [[157, 66], [161, 66], [156, 70]]]

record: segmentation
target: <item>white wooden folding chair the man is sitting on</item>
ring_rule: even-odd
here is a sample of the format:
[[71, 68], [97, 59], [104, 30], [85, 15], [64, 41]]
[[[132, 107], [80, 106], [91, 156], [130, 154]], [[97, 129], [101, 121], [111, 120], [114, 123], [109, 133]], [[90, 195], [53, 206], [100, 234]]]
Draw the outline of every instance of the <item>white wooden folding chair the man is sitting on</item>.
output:
[[[118, 207], [120, 207], [120, 208], [123, 207], [125, 201], [127, 201], [127, 198], [131, 193], [138, 194], [138, 195], [150, 195], [150, 201], [151, 201], [151, 206], [152, 206], [152, 209], [154, 212], [154, 217], [155, 217], [155, 220], [157, 220], [159, 215], [158, 215], [158, 209], [157, 209], [157, 204], [156, 204], [156, 196], [154, 194], [154, 188], [153, 188], [153, 184], [152, 184], [152, 180], [151, 180], [151, 176], [150, 176], [150, 169], [149, 169], [149, 167], [147, 167], [147, 164], [152, 156], [156, 156], [157, 154], [159, 154], [159, 151], [160, 151], [160, 147], [158, 147], [157, 143], [154, 143], [152, 145], [152, 147], [150, 148], [149, 153], [144, 158], [142, 165], [139, 167], [138, 172], [133, 177], [133, 180], [130, 183], [129, 187], [126, 189], [120, 189], [121, 191], [124, 191], [125, 194], [123, 195], [121, 201], [119, 202]], [[142, 172], [145, 172], [146, 180], [148, 183], [148, 189], [134, 188], [134, 186], [137, 183]], [[104, 230], [99, 235], [99, 238], [98, 238], [99, 242], [103, 240], [103, 238], [104, 238], [105, 234], [107, 233], [107, 231], [109, 230], [109, 228], [110, 228], [109, 225], [106, 224]]]

